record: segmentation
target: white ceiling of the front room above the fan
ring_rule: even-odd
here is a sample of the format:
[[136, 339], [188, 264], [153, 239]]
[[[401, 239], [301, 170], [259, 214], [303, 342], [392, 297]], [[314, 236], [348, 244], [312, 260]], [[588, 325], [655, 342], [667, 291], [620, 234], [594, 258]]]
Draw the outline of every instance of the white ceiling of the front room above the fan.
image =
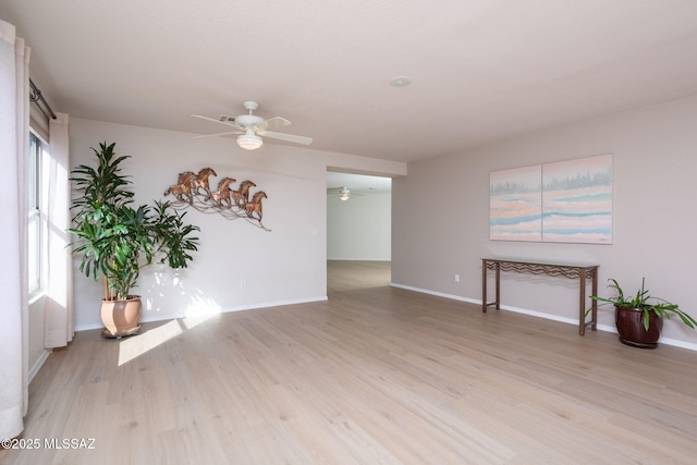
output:
[[695, 0], [1, 0], [0, 17], [73, 118], [213, 133], [189, 114], [253, 99], [310, 148], [401, 161], [697, 93]]

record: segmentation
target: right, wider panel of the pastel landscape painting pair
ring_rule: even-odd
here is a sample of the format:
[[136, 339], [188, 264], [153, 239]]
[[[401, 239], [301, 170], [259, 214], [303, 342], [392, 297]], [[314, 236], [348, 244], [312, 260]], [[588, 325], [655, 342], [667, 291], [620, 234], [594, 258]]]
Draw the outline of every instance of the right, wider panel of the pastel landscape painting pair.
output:
[[542, 166], [542, 241], [612, 244], [612, 156]]

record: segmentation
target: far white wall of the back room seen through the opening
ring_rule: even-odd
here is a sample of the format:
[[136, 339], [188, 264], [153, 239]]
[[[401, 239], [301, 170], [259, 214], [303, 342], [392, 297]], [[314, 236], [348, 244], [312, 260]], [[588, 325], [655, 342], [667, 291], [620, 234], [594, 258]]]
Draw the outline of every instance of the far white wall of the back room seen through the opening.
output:
[[389, 261], [391, 217], [389, 193], [327, 197], [327, 258]]

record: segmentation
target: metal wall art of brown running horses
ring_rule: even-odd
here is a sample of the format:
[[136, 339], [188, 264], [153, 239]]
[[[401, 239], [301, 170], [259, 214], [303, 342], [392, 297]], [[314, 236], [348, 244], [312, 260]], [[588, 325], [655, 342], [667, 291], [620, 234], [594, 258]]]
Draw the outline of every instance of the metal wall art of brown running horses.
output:
[[233, 189], [236, 180], [224, 176], [218, 186], [210, 187], [209, 178], [218, 174], [212, 168], [204, 168], [198, 173], [185, 171], [180, 173], [176, 184], [164, 191], [164, 195], [173, 195], [176, 200], [172, 207], [184, 209], [193, 207], [205, 213], [220, 213], [229, 220], [245, 219], [265, 231], [271, 231], [261, 223], [261, 199], [268, 198], [264, 191], [258, 191], [249, 199], [249, 189], [257, 185], [252, 181], [242, 181], [237, 189]]

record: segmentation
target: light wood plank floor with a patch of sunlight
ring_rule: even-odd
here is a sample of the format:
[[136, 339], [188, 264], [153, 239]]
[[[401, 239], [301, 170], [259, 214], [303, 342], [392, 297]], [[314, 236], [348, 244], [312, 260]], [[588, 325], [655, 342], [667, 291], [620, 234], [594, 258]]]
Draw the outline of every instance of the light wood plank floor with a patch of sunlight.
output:
[[337, 261], [329, 302], [80, 332], [32, 382], [23, 438], [95, 449], [0, 463], [696, 463], [696, 353], [389, 281]]

